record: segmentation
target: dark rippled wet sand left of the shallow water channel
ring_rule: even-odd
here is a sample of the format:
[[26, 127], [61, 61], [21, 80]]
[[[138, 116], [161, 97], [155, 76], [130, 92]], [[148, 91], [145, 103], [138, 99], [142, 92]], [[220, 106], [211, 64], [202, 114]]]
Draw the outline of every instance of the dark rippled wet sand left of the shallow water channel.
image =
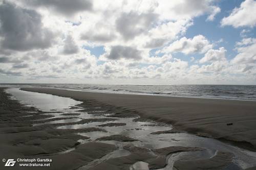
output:
[[[113, 144], [77, 142], [78, 139], [88, 139], [89, 137], [76, 133], [104, 132], [99, 128], [63, 130], [56, 129], [52, 125], [33, 126], [38, 123], [37, 119], [52, 116], [12, 100], [10, 94], [7, 94], [4, 89], [0, 88], [0, 169], [76, 169], [116, 150]], [[44, 122], [47, 121], [50, 120], [44, 120]], [[72, 147], [76, 147], [76, 149], [58, 154]], [[54, 161], [51, 167], [17, 167], [17, 165], [5, 167], [6, 162], [2, 161], [2, 159], [17, 158], [48, 158]]]

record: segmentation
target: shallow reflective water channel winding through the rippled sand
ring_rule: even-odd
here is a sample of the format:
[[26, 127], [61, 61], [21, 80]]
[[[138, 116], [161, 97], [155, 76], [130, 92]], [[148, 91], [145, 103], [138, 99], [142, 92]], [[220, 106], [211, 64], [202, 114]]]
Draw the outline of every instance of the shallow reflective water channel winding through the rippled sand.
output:
[[[102, 108], [95, 108], [95, 112], [99, 114], [88, 114], [86, 111], [79, 112], [79, 110], [84, 108], [75, 108], [75, 105], [81, 104], [82, 102], [75, 101], [70, 98], [63, 98], [60, 96], [55, 96], [51, 94], [36, 93], [23, 91], [18, 88], [9, 88], [6, 90], [8, 93], [12, 94], [13, 98], [20, 101], [22, 104], [28, 106], [33, 106], [41, 111], [53, 112], [45, 113], [54, 115], [54, 117], [70, 117], [70, 119], [54, 120], [52, 122], [47, 122], [45, 124], [56, 124], [56, 123], [70, 123], [78, 122], [82, 119], [88, 118], [110, 118], [106, 117], [110, 113], [105, 113], [105, 110]], [[69, 115], [61, 115], [63, 113], [69, 113]], [[77, 115], [77, 113], [80, 113]], [[105, 113], [105, 114], [104, 114]], [[72, 115], [75, 114], [75, 115]], [[113, 111], [114, 114], [114, 111]], [[76, 118], [72, 118], [76, 117]], [[53, 118], [53, 117], [51, 117]], [[57, 127], [59, 129], [79, 129], [79, 128], [89, 128], [96, 127], [104, 129], [106, 132], [88, 132], [88, 133], [78, 133], [83, 136], [88, 136], [90, 139], [79, 140], [81, 143], [95, 141], [95, 142], [105, 142], [110, 144], [115, 144], [118, 148], [117, 151], [114, 151], [104, 157], [90, 162], [88, 165], [81, 167], [80, 169], [90, 169], [105, 160], [110, 158], [122, 157], [129, 155], [130, 152], [123, 150], [123, 146], [127, 144], [133, 144], [136, 147], [146, 148], [146, 149], [160, 149], [165, 147], [173, 146], [182, 146], [182, 147], [200, 147], [205, 148], [204, 151], [194, 151], [194, 152], [181, 152], [173, 154], [166, 158], [166, 167], [163, 169], [175, 169], [173, 164], [176, 160], [179, 159], [208, 159], [214, 157], [218, 151], [229, 152], [234, 155], [232, 166], [227, 169], [245, 169], [256, 165], [256, 153], [247, 151], [228, 143], [221, 142], [216, 139], [205, 138], [196, 136], [188, 133], [168, 133], [168, 134], [151, 134], [152, 132], [157, 131], [166, 131], [172, 129], [171, 125], [158, 124], [155, 122], [133, 122], [133, 118], [120, 118], [114, 117], [116, 120], [111, 120], [108, 122], [91, 122], [81, 125], [67, 125]], [[113, 126], [113, 127], [99, 127], [102, 124], [106, 123], [124, 123], [124, 126]], [[34, 126], [41, 125], [35, 124]], [[130, 138], [137, 139], [137, 141], [132, 142], [120, 142], [120, 141], [97, 141], [97, 138], [110, 136], [110, 135], [123, 135]], [[71, 148], [65, 152], [70, 152], [75, 148]], [[61, 153], [59, 153], [61, 154]], [[146, 162], [136, 162], [130, 167], [130, 169], [148, 169], [148, 163]]]

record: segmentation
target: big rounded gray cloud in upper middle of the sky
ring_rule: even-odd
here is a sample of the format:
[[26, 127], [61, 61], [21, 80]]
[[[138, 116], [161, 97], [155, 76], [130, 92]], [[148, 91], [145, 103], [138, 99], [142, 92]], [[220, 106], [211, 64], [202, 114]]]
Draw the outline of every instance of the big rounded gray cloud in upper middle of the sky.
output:
[[157, 18], [158, 15], [154, 13], [123, 13], [116, 20], [116, 29], [124, 39], [129, 40], [149, 30]]

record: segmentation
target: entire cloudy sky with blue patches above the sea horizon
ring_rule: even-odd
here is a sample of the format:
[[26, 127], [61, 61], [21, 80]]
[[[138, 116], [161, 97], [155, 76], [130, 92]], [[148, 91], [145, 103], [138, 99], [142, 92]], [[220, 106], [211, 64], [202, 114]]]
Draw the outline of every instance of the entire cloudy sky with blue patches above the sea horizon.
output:
[[253, 0], [0, 0], [0, 83], [256, 85]]

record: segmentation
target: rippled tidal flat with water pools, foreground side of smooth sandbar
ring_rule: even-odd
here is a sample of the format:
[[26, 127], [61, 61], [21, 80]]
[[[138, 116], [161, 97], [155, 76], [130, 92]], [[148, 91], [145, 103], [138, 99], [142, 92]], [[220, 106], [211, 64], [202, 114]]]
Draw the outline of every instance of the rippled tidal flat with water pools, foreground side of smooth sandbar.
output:
[[8, 93], [0, 92], [1, 156], [5, 158], [51, 158], [50, 169], [256, 166], [255, 152], [173, 129], [140, 117], [135, 110], [89, 99], [5, 90]]

